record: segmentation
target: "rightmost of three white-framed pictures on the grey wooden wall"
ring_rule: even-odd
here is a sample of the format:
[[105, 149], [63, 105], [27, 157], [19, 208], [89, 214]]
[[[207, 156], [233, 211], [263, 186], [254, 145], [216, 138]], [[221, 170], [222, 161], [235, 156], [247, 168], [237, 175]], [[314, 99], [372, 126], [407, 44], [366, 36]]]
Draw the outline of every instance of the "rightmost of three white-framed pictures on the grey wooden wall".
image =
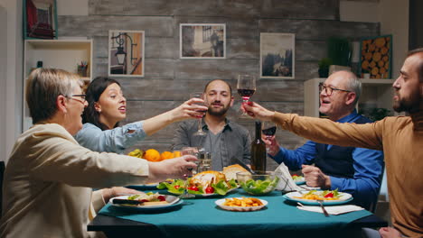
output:
[[295, 78], [296, 35], [260, 33], [260, 78]]

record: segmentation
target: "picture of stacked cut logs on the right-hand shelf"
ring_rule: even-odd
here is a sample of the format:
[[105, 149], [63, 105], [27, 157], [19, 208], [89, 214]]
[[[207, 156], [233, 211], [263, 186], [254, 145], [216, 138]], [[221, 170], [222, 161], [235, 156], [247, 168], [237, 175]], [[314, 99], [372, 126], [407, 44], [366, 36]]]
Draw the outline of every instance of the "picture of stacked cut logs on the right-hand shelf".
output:
[[361, 78], [391, 78], [392, 35], [360, 41]]

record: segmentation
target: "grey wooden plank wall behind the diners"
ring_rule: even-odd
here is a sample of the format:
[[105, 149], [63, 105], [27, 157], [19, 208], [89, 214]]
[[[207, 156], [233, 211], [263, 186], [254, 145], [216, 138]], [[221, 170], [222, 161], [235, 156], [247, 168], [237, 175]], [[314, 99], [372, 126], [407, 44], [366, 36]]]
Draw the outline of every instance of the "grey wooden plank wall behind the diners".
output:
[[[260, 32], [296, 34], [296, 77], [259, 79], [252, 100], [296, 114], [303, 114], [303, 83], [318, 77], [317, 61], [326, 57], [328, 37], [355, 40], [380, 34], [379, 23], [340, 22], [339, 0], [89, 0], [88, 16], [60, 15], [58, 20], [60, 37], [93, 39], [93, 77], [108, 75], [108, 30], [146, 32], [145, 77], [115, 77], [127, 97], [127, 119], [122, 124], [171, 110], [190, 92], [202, 91], [209, 80], [221, 78], [230, 82], [235, 96], [228, 117], [251, 133], [253, 121], [239, 117], [241, 100], [235, 87], [240, 73], [258, 76]], [[225, 23], [226, 59], [179, 59], [180, 23]], [[175, 126], [128, 151], [168, 150]], [[304, 141], [282, 130], [277, 138], [289, 149]]]

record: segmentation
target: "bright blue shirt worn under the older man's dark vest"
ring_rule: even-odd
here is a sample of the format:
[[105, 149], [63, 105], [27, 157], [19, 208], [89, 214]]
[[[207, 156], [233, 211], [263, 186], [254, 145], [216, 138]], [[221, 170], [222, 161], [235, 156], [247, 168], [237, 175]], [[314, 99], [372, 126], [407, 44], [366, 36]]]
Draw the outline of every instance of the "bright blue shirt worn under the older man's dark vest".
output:
[[[354, 110], [340, 120], [338, 123], [354, 123], [362, 115]], [[278, 163], [284, 162], [291, 170], [301, 169], [302, 164], [313, 164], [317, 156], [316, 142], [308, 141], [296, 150], [287, 150], [280, 147], [280, 151], [270, 156]], [[327, 145], [329, 151], [332, 145]], [[340, 155], [341, 156], [341, 155]], [[341, 160], [341, 159], [340, 159]], [[371, 204], [377, 201], [381, 189], [381, 176], [383, 174], [383, 152], [363, 148], [353, 150], [353, 178], [340, 178], [330, 176], [331, 189], [338, 188], [340, 191], [350, 193], [356, 204], [369, 209]]]

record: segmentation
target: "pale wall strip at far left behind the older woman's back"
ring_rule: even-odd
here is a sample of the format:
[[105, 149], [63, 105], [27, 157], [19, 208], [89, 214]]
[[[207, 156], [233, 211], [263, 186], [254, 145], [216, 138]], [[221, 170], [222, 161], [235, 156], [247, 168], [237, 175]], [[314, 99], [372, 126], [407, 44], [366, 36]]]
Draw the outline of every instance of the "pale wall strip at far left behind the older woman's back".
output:
[[[0, 111], [5, 121], [1, 126], [5, 133], [0, 134], [0, 143], [5, 150], [0, 151], [0, 160], [7, 160], [12, 147], [22, 128], [23, 103], [23, 34], [22, 1], [1, 0], [6, 15], [1, 41], [5, 42], [5, 69], [0, 73], [0, 80], [5, 85], [5, 104], [0, 104]], [[3, 26], [3, 25], [2, 25]], [[5, 78], [3, 78], [5, 77]]]

